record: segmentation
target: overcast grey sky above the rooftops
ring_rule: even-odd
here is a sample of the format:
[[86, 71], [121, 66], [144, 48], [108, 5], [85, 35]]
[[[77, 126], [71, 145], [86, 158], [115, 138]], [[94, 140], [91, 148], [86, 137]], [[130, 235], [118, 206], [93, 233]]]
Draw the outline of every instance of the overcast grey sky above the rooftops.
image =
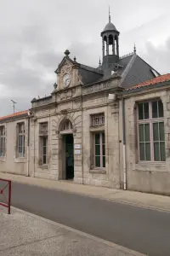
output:
[[71, 57], [97, 67], [100, 32], [111, 22], [120, 35], [120, 55], [133, 51], [160, 73], [170, 72], [168, 0], [0, 0], [0, 115], [31, 107], [53, 90], [54, 70]]

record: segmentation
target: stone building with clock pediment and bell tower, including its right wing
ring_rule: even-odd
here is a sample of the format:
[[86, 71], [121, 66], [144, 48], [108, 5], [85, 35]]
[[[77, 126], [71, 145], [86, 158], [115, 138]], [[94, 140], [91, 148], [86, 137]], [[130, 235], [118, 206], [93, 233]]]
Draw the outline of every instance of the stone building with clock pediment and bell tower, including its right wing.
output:
[[23, 166], [20, 174], [170, 194], [170, 75], [161, 76], [135, 47], [121, 57], [110, 15], [101, 39], [99, 67], [65, 50], [54, 90], [31, 101], [28, 171]]

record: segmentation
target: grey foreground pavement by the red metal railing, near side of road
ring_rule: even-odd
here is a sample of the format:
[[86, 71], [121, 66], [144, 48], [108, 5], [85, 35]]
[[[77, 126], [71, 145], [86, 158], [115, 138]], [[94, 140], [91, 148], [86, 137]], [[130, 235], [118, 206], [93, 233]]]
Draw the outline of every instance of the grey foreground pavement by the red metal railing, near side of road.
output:
[[0, 207], [0, 256], [144, 256], [37, 215]]

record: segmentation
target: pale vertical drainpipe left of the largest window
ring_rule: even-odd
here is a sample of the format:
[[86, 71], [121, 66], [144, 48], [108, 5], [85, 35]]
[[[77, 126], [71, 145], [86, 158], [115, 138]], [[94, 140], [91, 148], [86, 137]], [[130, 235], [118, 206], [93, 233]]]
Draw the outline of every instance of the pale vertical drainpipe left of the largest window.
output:
[[127, 189], [127, 165], [126, 165], [126, 133], [125, 133], [125, 102], [122, 98], [122, 154], [123, 154], [123, 189]]

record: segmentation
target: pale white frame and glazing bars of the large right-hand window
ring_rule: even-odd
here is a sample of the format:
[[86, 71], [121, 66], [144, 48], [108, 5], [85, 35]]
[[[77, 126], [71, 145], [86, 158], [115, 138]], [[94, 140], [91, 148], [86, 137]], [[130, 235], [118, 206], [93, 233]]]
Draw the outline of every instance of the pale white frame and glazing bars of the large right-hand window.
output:
[[[152, 101], [145, 101], [145, 102], [139, 102], [138, 103], [138, 108], [137, 108], [137, 135], [138, 135], [138, 160], [139, 162], [154, 162], [154, 163], [165, 163], [165, 161], [161, 161], [161, 149], [159, 150], [159, 157], [160, 157], [160, 160], [155, 160], [154, 159], [154, 131], [153, 131], [153, 124], [157, 123], [163, 123], [164, 125], [164, 113], [163, 113], [163, 117], [157, 117], [157, 118], [152, 118], [152, 102], [157, 102], [157, 113], [159, 113], [159, 109], [158, 109], [158, 102], [161, 101], [160, 99], [155, 99], [155, 100], [152, 100]], [[140, 103], [146, 103], [148, 102], [149, 103], [149, 119], [139, 119], [139, 104]], [[162, 102], [161, 102], [162, 103]], [[144, 108], [144, 105], [143, 105], [143, 108]], [[144, 110], [143, 110], [144, 111]], [[139, 125], [145, 125], [145, 124], [149, 124], [150, 125], [150, 160], [140, 160], [140, 145], [139, 145]], [[159, 125], [158, 125], [159, 127]], [[164, 125], [164, 129], [165, 129], [165, 125]], [[164, 132], [165, 133], [165, 132]], [[144, 136], [145, 136], [145, 133], [144, 133]], [[155, 141], [156, 142], [156, 141]], [[159, 142], [159, 147], [160, 147], [160, 143], [165, 143], [165, 139], [164, 141], [157, 141]], [[145, 144], [145, 142], [143, 142]], [[165, 148], [164, 148], [165, 149]], [[145, 149], [144, 149], [144, 153], [146, 154], [145, 152]], [[166, 156], [165, 156], [166, 158]]]

